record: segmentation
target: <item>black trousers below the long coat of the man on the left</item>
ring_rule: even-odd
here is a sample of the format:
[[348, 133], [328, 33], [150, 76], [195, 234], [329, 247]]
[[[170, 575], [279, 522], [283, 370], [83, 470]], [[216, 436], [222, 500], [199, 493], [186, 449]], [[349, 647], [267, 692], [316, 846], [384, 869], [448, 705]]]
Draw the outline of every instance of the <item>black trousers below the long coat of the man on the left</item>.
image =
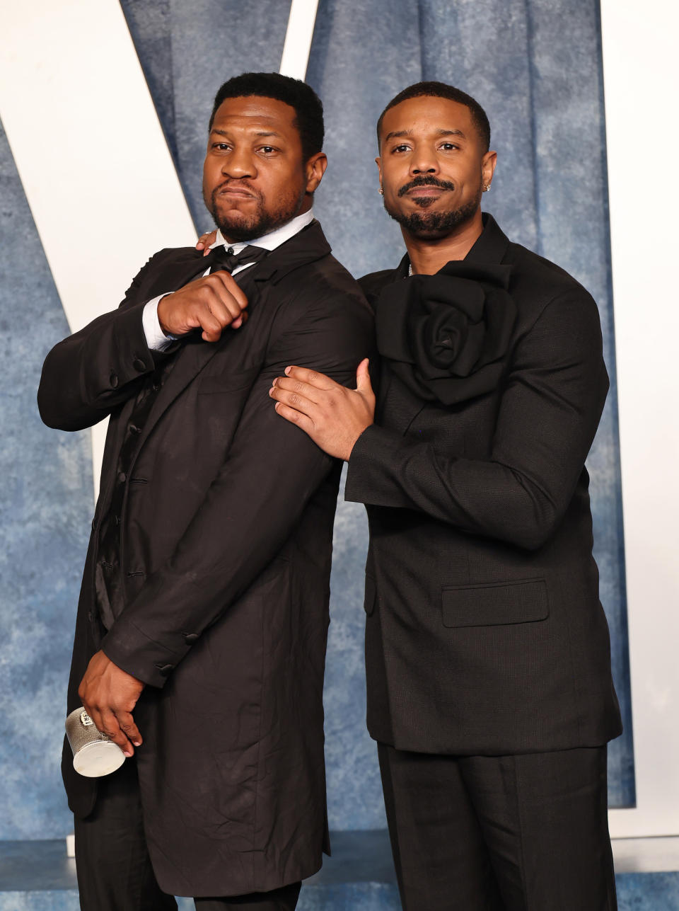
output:
[[[137, 766], [126, 760], [99, 783], [95, 809], [76, 819], [76, 872], [82, 911], [177, 911], [148, 856]], [[194, 898], [197, 911], [294, 911], [301, 883], [247, 896]]]

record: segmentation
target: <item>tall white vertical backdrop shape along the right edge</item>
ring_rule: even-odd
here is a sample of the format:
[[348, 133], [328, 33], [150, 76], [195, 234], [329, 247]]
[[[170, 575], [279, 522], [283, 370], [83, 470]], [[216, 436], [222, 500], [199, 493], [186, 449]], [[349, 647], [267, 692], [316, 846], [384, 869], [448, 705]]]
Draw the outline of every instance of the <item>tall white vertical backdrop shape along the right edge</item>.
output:
[[679, 13], [665, 0], [601, 12], [637, 797], [609, 820], [617, 837], [677, 835]]

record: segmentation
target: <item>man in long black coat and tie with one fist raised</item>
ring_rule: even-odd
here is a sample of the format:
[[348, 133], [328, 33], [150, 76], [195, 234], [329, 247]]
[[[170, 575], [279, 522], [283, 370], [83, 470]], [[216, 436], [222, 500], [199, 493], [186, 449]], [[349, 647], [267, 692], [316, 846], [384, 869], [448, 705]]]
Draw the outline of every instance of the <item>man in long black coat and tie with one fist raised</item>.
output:
[[370, 350], [370, 309], [313, 220], [322, 141], [304, 83], [229, 80], [203, 175], [215, 250], [158, 252], [46, 359], [46, 424], [110, 415], [68, 711], [82, 701], [129, 758], [96, 781], [64, 754], [88, 911], [291, 909], [327, 849], [340, 466], [267, 394], [291, 362], [349, 382]]

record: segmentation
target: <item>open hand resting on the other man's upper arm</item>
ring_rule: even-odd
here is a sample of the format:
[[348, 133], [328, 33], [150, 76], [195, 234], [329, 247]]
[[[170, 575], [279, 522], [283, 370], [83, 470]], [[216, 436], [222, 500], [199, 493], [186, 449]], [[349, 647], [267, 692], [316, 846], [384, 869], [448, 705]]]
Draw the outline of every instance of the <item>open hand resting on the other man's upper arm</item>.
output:
[[276, 411], [297, 424], [328, 455], [349, 461], [354, 444], [375, 418], [368, 359], [356, 371], [356, 389], [306, 367], [287, 367], [269, 389]]

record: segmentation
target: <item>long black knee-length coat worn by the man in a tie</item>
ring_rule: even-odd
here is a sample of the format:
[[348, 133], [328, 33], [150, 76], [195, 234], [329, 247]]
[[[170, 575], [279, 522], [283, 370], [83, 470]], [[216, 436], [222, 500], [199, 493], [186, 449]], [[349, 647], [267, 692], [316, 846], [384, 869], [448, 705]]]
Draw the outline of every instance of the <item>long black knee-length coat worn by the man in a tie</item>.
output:
[[[135, 761], [158, 882], [227, 896], [310, 875], [327, 833], [322, 689], [339, 466], [276, 414], [269, 386], [291, 363], [351, 383], [373, 330], [312, 222], [238, 275], [242, 328], [149, 352], [145, 302], [197, 266], [193, 249], [157, 253], [116, 312], [49, 353], [38, 402], [65, 430], [110, 415], [68, 711], [100, 648], [148, 684]], [[135, 398], [164, 357], [172, 369], [121, 475]], [[120, 484], [125, 609], [106, 632], [98, 527]], [[88, 814], [96, 782], [74, 772], [67, 746], [63, 773], [71, 808]]]

